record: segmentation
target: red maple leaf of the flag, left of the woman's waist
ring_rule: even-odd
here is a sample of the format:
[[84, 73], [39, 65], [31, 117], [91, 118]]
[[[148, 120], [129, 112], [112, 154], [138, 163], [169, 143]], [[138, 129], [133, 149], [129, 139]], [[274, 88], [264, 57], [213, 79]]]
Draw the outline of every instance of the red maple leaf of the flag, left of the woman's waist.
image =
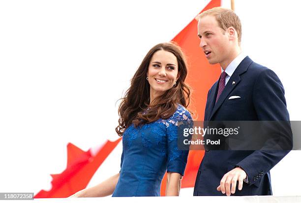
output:
[[121, 138], [111, 142], [106, 141], [95, 156], [91, 149], [87, 152], [75, 145], [67, 145], [67, 167], [60, 174], [52, 174], [50, 191], [41, 190], [34, 198], [65, 198], [87, 187], [95, 171], [109, 156], [120, 142]]

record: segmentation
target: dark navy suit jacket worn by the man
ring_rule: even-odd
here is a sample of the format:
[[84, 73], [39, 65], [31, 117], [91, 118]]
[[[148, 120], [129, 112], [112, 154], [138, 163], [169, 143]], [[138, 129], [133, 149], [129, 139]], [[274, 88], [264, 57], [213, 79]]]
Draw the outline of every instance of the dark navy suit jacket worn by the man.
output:
[[[233, 84], [233, 81], [235, 83]], [[215, 103], [216, 81], [208, 92], [205, 121], [289, 121], [284, 88], [269, 68], [245, 57], [230, 77]], [[241, 98], [229, 100], [231, 96]], [[292, 139], [292, 135], [287, 135]], [[289, 151], [206, 151], [196, 177], [194, 196], [225, 196], [217, 191], [220, 180], [239, 166], [247, 173], [248, 183], [236, 196], [271, 195], [270, 169]]]

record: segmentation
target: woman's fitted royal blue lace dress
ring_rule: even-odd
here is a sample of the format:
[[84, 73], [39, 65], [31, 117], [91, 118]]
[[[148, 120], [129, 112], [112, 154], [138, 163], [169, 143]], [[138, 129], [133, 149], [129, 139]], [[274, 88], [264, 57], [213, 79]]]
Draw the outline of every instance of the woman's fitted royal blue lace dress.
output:
[[178, 149], [179, 123], [193, 125], [180, 104], [169, 119], [137, 128], [132, 124], [124, 131], [120, 177], [112, 197], [160, 196], [166, 170], [184, 175], [189, 151]]

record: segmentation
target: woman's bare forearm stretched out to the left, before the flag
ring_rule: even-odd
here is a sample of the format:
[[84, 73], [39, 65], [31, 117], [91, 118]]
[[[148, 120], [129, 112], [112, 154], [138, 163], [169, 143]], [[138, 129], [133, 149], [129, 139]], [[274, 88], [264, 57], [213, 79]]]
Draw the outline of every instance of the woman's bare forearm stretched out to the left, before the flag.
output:
[[74, 194], [75, 197], [78, 198], [86, 198], [86, 197], [105, 197], [108, 195], [112, 195], [117, 182], [119, 179], [119, 173], [111, 176], [107, 180], [102, 183], [95, 185], [90, 188], [86, 188]]

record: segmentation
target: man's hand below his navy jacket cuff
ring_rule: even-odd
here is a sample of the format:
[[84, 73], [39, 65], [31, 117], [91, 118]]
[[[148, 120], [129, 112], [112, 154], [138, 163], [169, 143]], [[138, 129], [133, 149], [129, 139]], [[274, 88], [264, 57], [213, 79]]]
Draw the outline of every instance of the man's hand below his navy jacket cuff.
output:
[[246, 173], [243, 169], [239, 167], [232, 169], [223, 176], [223, 178], [220, 181], [220, 185], [217, 187], [217, 191], [221, 191], [223, 194], [226, 193], [227, 196], [230, 196], [231, 193], [235, 193], [237, 181], [239, 181], [238, 189], [242, 189], [242, 183], [244, 178], [246, 178]]

